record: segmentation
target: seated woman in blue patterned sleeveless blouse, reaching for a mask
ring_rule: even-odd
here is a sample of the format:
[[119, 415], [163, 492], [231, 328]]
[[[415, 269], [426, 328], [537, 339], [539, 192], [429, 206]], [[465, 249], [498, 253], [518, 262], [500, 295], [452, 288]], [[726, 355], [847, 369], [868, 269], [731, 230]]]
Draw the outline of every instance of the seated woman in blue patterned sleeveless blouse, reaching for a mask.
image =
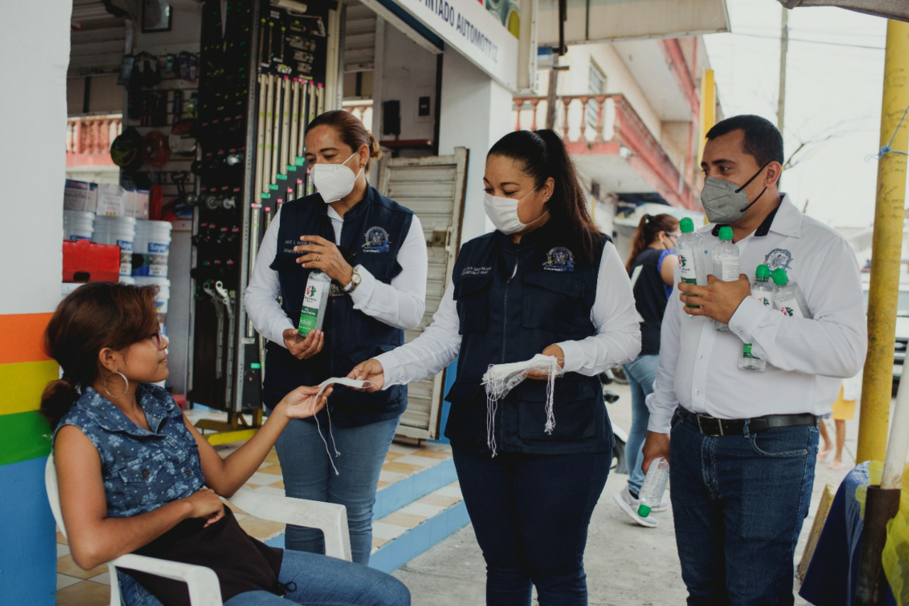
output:
[[[291, 419], [325, 406], [331, 388], [297, 387], [226, 459], [155, 382], [167, 378], [155, 286], [88, 283], [57, 307], [45, 348], [63, 369], [41, 412], [54, 430], [60, 506], [76, 564], [125, 553], [207, 566], [227, 606], [410, 603], [405, 586], [355, 563], [267, 547], [219, 499], [258, 469]], [[128, 604], [188, 604], [185, 584], [119, 574]]]

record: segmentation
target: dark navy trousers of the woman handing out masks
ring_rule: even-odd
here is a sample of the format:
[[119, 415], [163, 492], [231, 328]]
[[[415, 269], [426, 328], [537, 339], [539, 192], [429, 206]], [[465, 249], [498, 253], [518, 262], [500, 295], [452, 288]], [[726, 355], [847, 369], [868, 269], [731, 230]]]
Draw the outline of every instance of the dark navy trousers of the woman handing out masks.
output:
[[587, 526], [603, 492], [609, 452], [523, 454], [453, 448], [464, 504], [486, 561], [486, 604], [587, 603]]

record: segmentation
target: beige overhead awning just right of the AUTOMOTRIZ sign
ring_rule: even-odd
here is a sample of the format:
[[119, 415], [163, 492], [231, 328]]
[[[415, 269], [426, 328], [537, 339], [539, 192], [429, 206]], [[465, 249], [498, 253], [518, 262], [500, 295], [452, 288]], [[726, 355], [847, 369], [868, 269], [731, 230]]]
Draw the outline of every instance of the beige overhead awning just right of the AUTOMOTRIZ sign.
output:
[[[566, 45], [729, 31], [725, 0], [566, 0]], [[540, 45], [559, 44], [559, 0], [539, 0]]]

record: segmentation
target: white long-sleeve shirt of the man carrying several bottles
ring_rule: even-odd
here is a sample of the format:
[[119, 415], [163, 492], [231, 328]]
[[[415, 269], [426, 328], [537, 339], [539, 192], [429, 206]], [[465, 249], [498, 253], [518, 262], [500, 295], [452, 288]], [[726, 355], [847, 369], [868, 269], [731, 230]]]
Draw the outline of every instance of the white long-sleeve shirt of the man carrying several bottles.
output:
[[[766, 223], [766, 222], [765, 222]], [[698, 230], [704, 249], [719, 243], [713, 225]], [[813, 319], [784, 316], [747, 297], [718, 333], [709, 319], [684, 313], [677, 288], [666, 306], [648, 431], [668, 433], [676, 405], [720, 419], [830, 411], [842, 379], [858, 373], [868, 337], [855, 255], [844, 238], [802, 214], [784, 195], [764, 235], [739, 242], [741, 272], [784, 267], [798, 283]], [[708, 256], [706, 271], [712, 271]], [[676, 275], [678, 282], [678, 275]], [[766, 360], [763, 373], [739, 370], [743, 343]]]

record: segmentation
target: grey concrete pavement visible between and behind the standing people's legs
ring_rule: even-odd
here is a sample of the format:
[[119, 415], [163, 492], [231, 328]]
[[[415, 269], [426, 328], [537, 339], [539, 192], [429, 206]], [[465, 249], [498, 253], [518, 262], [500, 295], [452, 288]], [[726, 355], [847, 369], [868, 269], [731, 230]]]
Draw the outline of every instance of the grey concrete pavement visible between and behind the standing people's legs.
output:
[[[613, 385], [621, 399], [609, 405], [614, 424], [627, 431], [631, 427], [630, 392], [624, 385]], [[854, 465], [857, 419], [847, 422], [844, 469], [830, 470], [818, 463], [814, 480], [811, 511], [796, 551], [796, 563], [801, 558], [804, 543], [814, 522], [825, 484], [839, 486]], [[833, 422], [827, 422], [833, 431]], [[654, 514], [660, 525], [643, 528], [631, 522], [613, 501], [628, 476], [610, 474], [603, 495], [594, 510], [587, 540], [584, 566], [592, 606], [663, 606], [684, 604], [684, 589], [675, 551], [672, 512]], [[484, 604], [485, 567], [483, 555], [476, 545], [473, 528], [461, 531], [417, 556], [394, 572], [404, 581], [413, 595], [415, 606]], [[794, 581], [797, 591], [798, 582]], [[535, 603], [535, 600], [534, 600]], [[806, 602], [796, 597], [796, 604]]]

